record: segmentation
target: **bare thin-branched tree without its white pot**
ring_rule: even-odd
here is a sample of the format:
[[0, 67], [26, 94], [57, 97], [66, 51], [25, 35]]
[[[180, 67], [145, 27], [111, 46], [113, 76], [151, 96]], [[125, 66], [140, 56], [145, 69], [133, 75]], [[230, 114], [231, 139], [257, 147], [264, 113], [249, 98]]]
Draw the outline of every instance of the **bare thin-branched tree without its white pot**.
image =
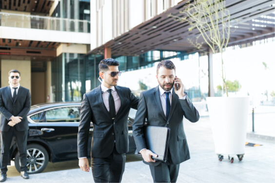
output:
[[196, 37], [188, 38], [190, 43], [199, 50], [206, 43], [213, 54], [220, 53], [221, 77], [228, 96], [222, 58], [230, 38], [230, 13], [225, 7], [225, 0], [194, 0], [192, 3], [188, 1], [180, 13], [183, 14], [183, 18], [173, 15], [169, 15], [169, 17], [175, 17], [177, 21], [188, 22], [190, 25], [188, 31], [198, 30], [200, 33]]

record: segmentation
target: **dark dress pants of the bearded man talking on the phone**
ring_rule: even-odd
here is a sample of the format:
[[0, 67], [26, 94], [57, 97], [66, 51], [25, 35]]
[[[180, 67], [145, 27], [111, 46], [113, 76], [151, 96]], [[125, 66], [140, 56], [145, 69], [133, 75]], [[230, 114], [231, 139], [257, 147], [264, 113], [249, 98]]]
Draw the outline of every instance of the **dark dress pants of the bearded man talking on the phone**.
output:
[[168, 150], [167, 162], [161, 162], [157, 166], [150, 166], [154, 183], [176, 183], [180, 164], [173, 164]]

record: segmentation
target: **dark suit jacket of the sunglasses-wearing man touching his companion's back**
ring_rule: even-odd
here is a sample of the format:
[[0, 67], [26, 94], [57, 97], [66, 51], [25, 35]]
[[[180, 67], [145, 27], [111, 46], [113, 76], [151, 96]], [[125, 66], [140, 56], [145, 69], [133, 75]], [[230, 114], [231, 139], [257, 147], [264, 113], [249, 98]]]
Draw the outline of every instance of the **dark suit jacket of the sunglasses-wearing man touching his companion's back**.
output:
[[[113, 121], [106, 109], [100, 85], [84, 94], [80, 110], [78, 133], [78, 156], [88, 157], [88, 139], [91, 121], [94, 131], [91, 156], [95, 158], [108, 157], [116, 146], [118, 153], [129, 150], [128, 115], [130, 108], [137, 109], [138, 99], [129, 88], [115, 87], [120, 98], [121, 106]], [[116, 143], [115, 143], [116, 140]]]

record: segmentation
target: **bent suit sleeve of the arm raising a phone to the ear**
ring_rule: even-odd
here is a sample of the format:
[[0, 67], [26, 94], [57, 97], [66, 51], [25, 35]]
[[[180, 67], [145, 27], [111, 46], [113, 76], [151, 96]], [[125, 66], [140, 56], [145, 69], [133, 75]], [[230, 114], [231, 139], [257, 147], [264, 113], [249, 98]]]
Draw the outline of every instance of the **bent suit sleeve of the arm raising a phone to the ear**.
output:
[[188, 119], [190, 122], [197, 122], [199, 120], [199, 114], [193, 103], [189, 99], [188, 95], [185, 100], [179, 99], [179, 103], [181, 105], [182, 110], [184, 111], [184, 117]]

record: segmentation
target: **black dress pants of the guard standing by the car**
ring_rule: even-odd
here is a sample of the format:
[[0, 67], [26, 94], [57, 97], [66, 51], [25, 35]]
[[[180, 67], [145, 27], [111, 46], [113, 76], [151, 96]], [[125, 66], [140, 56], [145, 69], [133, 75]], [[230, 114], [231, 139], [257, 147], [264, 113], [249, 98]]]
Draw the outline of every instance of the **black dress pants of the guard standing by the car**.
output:
[[27, 171], [27, 137], [28, 130], [17, 131], [11, 127], [9, 131], [0, 132], [0, 173], [5, 174], [8, 171], [8, 157], [13, 135], [15, 134], [16, 144], [19, 150], [20, 170]]

